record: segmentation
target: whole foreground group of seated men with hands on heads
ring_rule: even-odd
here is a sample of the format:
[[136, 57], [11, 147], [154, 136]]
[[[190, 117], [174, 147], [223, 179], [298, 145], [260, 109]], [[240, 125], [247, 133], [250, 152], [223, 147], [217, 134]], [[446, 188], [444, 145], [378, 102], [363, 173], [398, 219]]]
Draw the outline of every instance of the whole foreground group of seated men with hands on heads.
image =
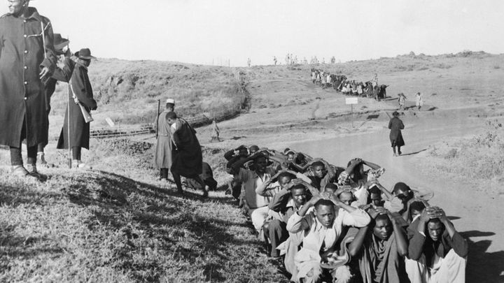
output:
[[257, 149], [228, 172], [258, 238], [292, 282], [465, 281], [468, 244], [429, 205], [433, 194], [403, 182], [388, 191], [377, 164], [352, 159], [339, 168], [289, 149]]

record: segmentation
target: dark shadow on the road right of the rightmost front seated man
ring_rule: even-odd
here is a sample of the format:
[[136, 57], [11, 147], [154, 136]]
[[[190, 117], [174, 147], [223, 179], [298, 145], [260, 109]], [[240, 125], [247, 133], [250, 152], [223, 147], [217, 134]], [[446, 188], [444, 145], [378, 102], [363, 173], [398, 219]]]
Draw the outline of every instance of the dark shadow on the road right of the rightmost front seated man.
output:
[[465, 268], [466, 282], [503, 282], [504, 251], [486, 252], [491, 245], [491, 240], [470, 239], [488, 237], [495, 233], [472, 230], [461, 232], [461, 235], [468, 240], [469, 244], [469, 256]]

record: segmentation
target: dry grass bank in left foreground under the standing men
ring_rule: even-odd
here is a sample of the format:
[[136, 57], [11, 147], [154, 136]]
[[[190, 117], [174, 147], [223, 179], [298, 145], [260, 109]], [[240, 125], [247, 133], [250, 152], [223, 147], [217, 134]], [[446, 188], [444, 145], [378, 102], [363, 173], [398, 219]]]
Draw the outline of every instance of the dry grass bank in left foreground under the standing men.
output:
[[[156, 180], [151, 144], [92, 147], [96, 170], [46, 169], [43, 184], [0, 169], [1, 282], [286, 281], [222, 191], [176, 195]], [[222, 154], [204, 158], [215, 168]]]

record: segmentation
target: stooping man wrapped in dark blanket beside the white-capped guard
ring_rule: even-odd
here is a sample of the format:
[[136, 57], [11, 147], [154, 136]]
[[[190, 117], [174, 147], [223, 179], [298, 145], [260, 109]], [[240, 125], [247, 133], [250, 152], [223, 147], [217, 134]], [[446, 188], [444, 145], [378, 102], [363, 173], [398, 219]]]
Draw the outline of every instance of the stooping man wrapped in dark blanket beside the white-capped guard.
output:
[[196, 131], [185, 120], [177, 117], [176, 113], [167, 113], [166, 119], [171, 128], [173, 143], [172, 175], [177, 190], [183, 193], [181, 176], [194, 179], [200, 184], [203, 196], [208, 196], [208, 191], [200, 177], [202, 173], [203, 155]]

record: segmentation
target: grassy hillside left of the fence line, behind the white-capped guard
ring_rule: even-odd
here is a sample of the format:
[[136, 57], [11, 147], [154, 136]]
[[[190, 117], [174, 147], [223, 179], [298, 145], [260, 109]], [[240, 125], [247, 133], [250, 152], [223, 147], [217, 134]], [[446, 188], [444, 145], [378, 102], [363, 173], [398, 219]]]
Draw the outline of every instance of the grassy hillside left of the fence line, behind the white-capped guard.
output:
[[[177, 112], [185, 117], [205, 113], [210, 118], [239, 113], [246, 101], [246, 82], [238, 69], [99, 59], [89, 70], [98, 113], [118, 124], [153, 122], [158, 99], [162, 108], [167, 98], [175, 99]], [[59, 84], [52, 97], [53, 114], [64, 113], [65, 95], [66, 84]]]

